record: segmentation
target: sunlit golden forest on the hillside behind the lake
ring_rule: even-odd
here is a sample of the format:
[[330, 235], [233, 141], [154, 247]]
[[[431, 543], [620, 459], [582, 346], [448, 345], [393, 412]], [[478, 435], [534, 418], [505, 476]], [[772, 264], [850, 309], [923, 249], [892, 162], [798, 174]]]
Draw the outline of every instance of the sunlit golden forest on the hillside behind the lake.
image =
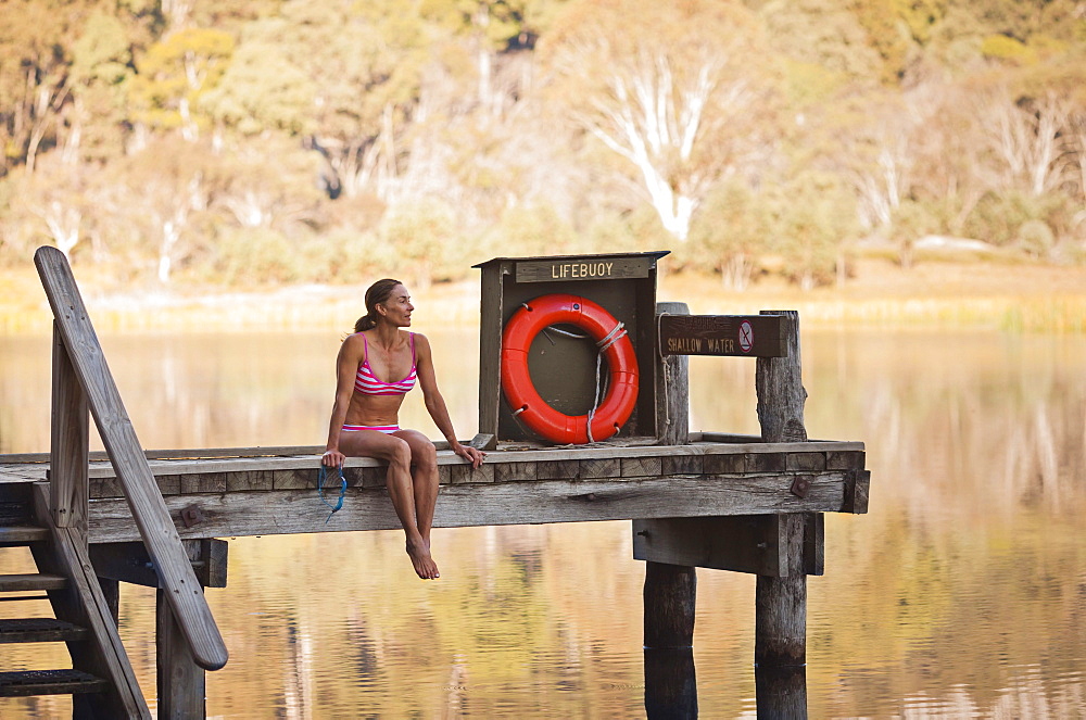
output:
[[0, 0], [0, 16], [9, 278], [40, 244], [105, 292], [426, 289], [494, 256], [646, 250], [733, 291], [841, 287], [872, 257], [1086, 277], [1086, 2]]

